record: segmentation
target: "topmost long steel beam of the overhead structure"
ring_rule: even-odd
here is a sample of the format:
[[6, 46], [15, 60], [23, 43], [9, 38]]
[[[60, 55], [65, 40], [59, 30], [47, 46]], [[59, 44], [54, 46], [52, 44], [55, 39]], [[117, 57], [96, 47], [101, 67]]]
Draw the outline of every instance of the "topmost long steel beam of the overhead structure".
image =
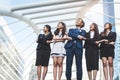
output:
[[[16, 7], [13, 7], [11, 9], [11, 11], [25, 10], [25, 9], [65, 4], [65, 3], [72, 3], [72, 2], [78, 2], [78, 1], [80, 1], [80, 0], [49, 0], [49, 1], [45, 1], [45, 2], [39, 2], [39, 3], [37, 2], [37, 3], [28, 4], [28, 5], [16, 6]], [[85, 0], [81, 0], [81, 1], [85, 1]]]

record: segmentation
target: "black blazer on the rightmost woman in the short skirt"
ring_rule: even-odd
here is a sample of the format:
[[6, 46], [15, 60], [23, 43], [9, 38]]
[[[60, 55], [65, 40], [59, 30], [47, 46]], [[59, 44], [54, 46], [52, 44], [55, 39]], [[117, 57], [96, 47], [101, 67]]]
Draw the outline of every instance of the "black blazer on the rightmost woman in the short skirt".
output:
[[[112, 32], [110, 31], [110, 33], [107, 35], [107, 36], [102, 36], [100, 35], [101, 37], [101, 40], [102, 39], [107, 39], [108, 40], [108, 43], [110, 42], [115, 42], [116, 41], [116, 32]], [[114, 48], [114, 45], [111, 45], [111, 44], [104, 44], [104, 43], [101, 43], [100, 47], [104, 48], [104, 47], [113, 47]]]

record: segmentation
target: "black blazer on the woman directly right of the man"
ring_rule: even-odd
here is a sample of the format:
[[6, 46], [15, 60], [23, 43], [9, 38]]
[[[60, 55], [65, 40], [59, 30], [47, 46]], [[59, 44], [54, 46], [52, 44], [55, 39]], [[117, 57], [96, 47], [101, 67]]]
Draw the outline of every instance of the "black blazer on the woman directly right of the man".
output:
[[88, 48], [94, 48], [94, 49], [99, 49], [98, 45], [95, 44], [95, 41], [99, 41], [100, 40], [100, 36], [95, 36], [91, 39], [90, 38], [90, 32], [86, 33], [86, 40], [85, 40], [85, 44], [84, 44], [84, 48], [88, 49]]

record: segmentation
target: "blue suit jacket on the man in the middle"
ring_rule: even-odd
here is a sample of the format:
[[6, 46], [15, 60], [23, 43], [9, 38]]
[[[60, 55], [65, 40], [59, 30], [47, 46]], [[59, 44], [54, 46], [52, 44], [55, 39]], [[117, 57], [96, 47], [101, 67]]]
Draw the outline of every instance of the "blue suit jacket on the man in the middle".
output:
[[85, 30], [78, 30], [78, 29], [70, 29], [69, 30], [69, 33], [68, 33], [68, 36], [69, 37], [72, 37], [72, 40], [68, 41], [65, 45], [65, 49], [67, 48], [71, 48], [72, 45], [74, 44], [74, 42], [76, 42], [76, 46], [78, 48], [83, 48], [83, 45], [82, 45], [82, 40], [79, 40], [78, 39], [78, 35], [81, 35], [81, 36], [84, 36], [85, 37], [85, 34], [86, 34], [86, 31]]

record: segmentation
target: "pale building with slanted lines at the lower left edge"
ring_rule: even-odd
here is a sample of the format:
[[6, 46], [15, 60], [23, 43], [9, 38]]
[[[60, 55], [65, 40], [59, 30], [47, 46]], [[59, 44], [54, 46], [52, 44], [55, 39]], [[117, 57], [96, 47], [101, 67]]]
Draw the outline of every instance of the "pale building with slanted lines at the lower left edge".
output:
[[0, 80], [23, 80], [24, 60], [7, 30], [0, 25]]

